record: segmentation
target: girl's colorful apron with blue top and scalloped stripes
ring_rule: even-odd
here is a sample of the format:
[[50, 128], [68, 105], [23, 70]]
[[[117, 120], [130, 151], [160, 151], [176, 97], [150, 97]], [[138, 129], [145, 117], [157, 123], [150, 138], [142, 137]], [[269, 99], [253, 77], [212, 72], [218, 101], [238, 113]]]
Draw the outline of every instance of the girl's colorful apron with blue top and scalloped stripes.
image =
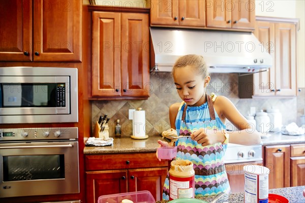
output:
[[[214, 110], [210, 96], [207, 103], [200, 107], [188, 107], [182, 102], [176, 117], [176, 130], [180, 136], [189, 136], [199, 128], [224, 129], [225, 125]], [[197, 115], [196, 115], [197, 114]], [[195, 119], [194, 119], [195, 118]], [[227, 145], [216, 143], [202, 146], [191, 138], [180, 138], [176, 141], [176, 159], [187, 159], [193, 162], [195, 171], [195, 196], [230, 193], [230, 185], [224, 165], [224, 153]], [[163, 199], [169, 199], [169, 176], [163, 188]]]

